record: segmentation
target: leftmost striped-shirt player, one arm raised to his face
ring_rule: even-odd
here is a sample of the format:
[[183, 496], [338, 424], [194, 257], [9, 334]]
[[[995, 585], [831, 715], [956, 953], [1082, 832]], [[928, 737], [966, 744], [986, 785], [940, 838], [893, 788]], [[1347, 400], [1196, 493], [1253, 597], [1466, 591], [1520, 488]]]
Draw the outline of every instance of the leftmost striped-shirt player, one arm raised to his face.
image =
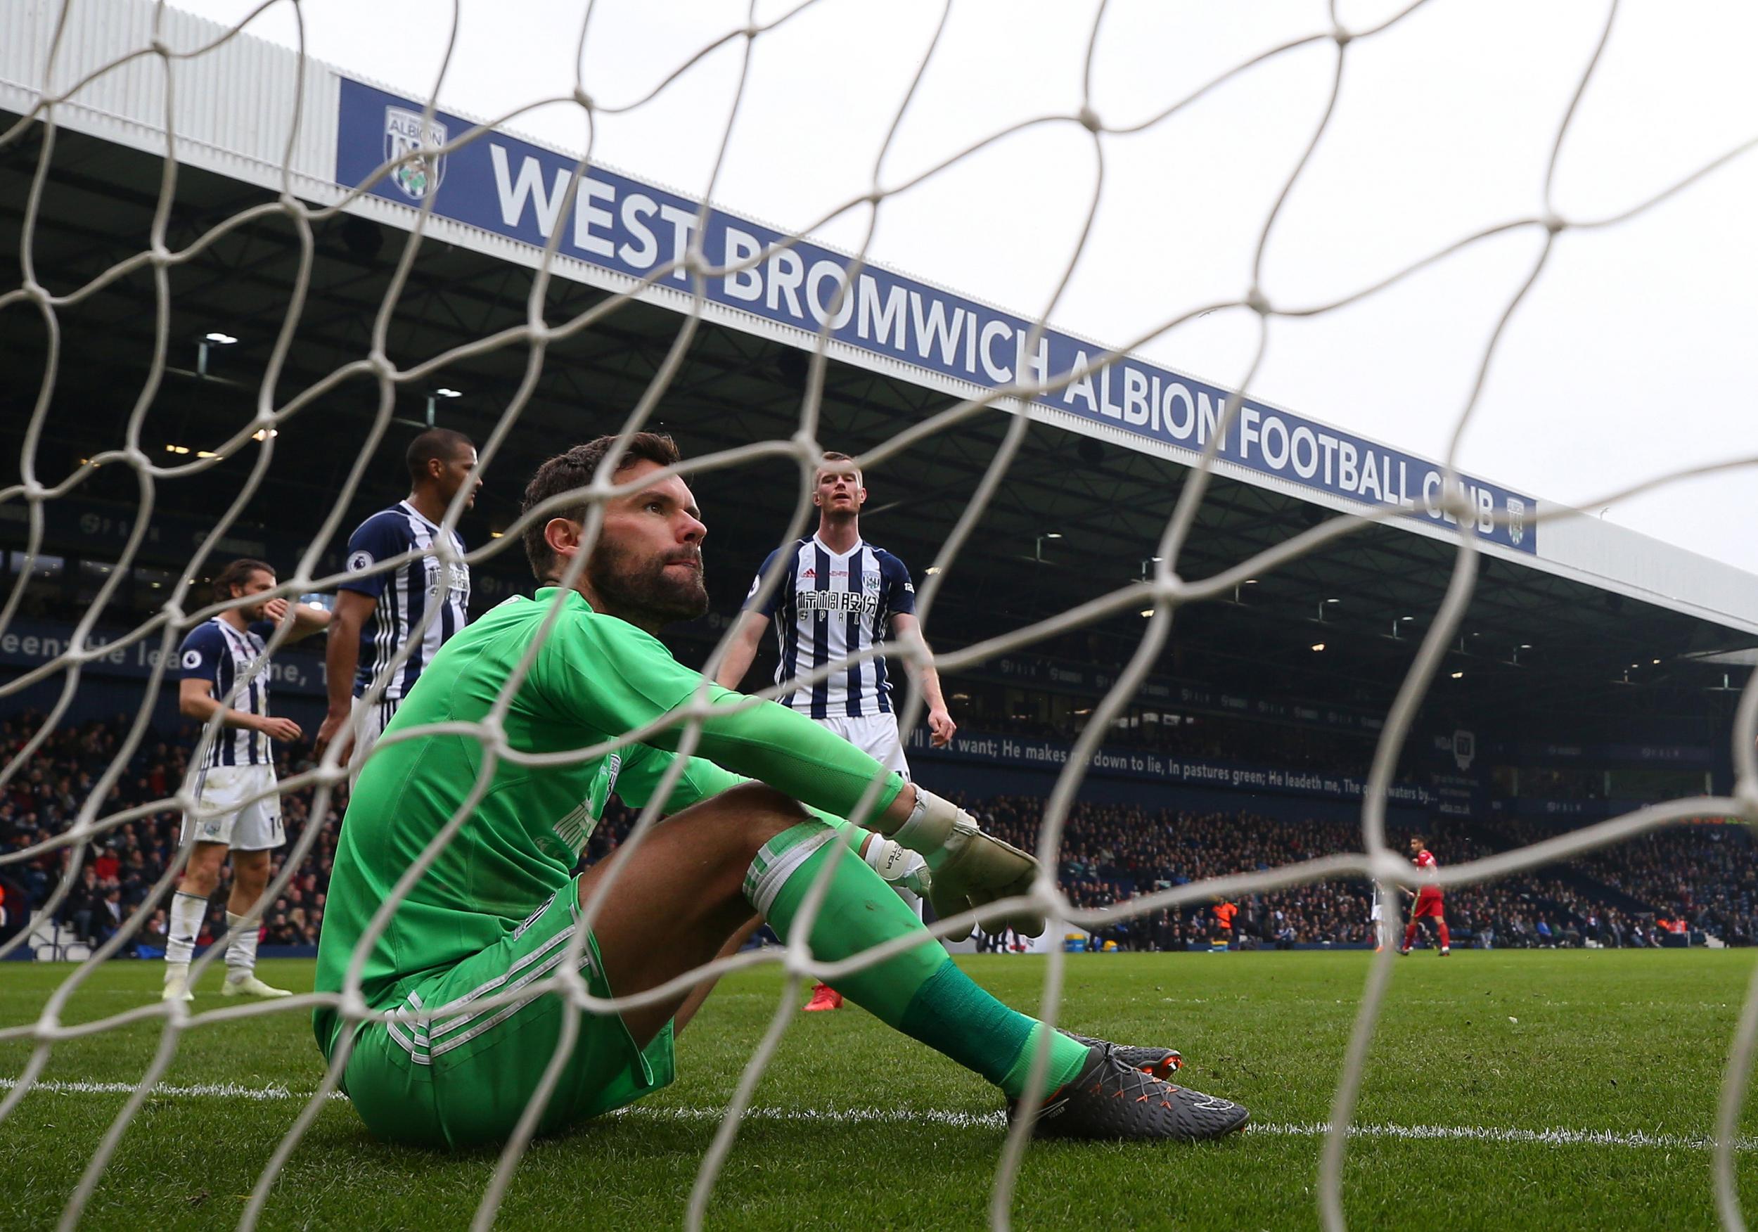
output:
[[[274, 589], [274, 568], [262, 561], [232, 561], [214, 578], [214, 601], [264, 596]], [[220, 715], [220, 728], [202, 757], [190, 766], [195, 775], [197, 812], [183, 815], [181, 842], [195, 845], [171, 896], [165, 930], [163, 1000], [195, 1000], [190, 991], [190, 960], [207, 916], [207, 900], [220, 888], [220, 865], [232, 856], [232, 893], [227, 926], [236, 926], [269, 884], [269, 852], [287, 844], [281, 830], [281, 800], [274, 794], [271, 740], [297, 740], [299, 724], [269, 714], [269, 671], [264, 663], [269, 634], [288, 619], [287, 641], [309, 636], [331, 622], [323, 608], [288, 605], [271, 598], [227, 608], [190, 629], [179, 647], [178, 710], [204, 724]], [[264, 794], [267, 793], [267, 794]], [[253, 796], [257, 796], [253, 800]], [[257, 935], [250, 930], [232, 938], [225, 951], [225, 996], [287, 996], [257, 979]]]

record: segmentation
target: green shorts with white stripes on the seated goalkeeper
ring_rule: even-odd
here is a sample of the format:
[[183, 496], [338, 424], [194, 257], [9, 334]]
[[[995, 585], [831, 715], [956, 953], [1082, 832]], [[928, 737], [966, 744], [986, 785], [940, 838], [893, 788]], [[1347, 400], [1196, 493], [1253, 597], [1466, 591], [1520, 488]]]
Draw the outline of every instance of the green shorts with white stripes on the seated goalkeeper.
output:
[[[360, 1030], [343, 1088], [374, 1137], [455, 1149], [512, 1135], [556, 1056], [564, 1016], [578, 1011], [556, 993], [482, 1011], [475, 1005], [554, 975], [568, 956], [578, 912], [580, 895], [570, 882], [503, 940], [401, 986], [401, 1000], [389, 1007], [397, 1018]], [[591, 933], [580, 970], [594, 996], [612, 995]], [[573, 1053], [538, 1134], [633, 1104], [677, 1072], [670, 1023], [640, 1047], [617, 1014], [578, 1018]]]

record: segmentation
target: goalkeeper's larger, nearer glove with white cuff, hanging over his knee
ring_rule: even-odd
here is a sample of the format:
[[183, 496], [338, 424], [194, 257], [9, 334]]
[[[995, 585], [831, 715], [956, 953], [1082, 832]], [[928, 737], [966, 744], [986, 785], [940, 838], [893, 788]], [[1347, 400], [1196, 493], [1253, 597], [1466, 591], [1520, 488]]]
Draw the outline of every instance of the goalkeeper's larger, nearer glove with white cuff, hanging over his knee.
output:
[[[942, 919], [986, 907], [1000, 898], [1028, 895], [1037, 877], [1037, 861], [1032, 856], [993, 835], [984, 835], [976, 817], [921, 787], [916, 787], [916, 807], [909, 821], [898, 826], [891, 838], [926, 859], [933, 875], [926, 896], [933, 903], [933, 914]], [[999, 923], [1025, 937], [1044, 933], [1044, 917], [1032, 910], [988, 917], [984, 923]], [[951, 933], [948, 940], [963, 940], [969, 935], [967, 924], [963, 933]]]

